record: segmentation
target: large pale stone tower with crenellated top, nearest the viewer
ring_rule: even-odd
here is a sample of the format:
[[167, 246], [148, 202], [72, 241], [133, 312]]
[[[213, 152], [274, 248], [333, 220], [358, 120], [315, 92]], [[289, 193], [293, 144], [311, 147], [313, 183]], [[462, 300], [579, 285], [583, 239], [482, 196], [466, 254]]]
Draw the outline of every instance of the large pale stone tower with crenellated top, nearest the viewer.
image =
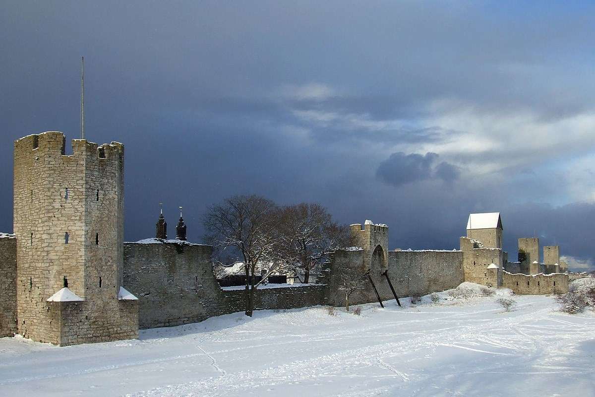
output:
[[72, 345], [138, 335], [122, 288], [124, 146], [61, 132], [14, 142], [18, 333]]

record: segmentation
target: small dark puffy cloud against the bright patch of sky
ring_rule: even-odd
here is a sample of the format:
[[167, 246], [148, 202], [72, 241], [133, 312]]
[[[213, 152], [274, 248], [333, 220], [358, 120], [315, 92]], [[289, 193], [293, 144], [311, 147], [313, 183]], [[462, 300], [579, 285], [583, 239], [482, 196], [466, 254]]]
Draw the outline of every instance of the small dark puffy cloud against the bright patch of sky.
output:
[[405, 154], [397, 152], [384, 160], [376, 170], [376, 176], [390, 185], [400, 186], [406, 183], [439, 178], [445, 182], [455, 180], [459, 171], [445, 161], [438, 162], [437, 153]]

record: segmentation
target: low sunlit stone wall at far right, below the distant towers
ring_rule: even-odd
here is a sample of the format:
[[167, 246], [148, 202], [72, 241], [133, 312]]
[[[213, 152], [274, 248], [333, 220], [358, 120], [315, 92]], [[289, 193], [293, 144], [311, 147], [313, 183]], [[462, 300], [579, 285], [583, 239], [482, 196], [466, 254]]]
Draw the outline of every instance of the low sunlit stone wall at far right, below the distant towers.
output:
[[550, 295], [568, 292], [568, 274], [503, 274], [503, 287], [518, 295]]

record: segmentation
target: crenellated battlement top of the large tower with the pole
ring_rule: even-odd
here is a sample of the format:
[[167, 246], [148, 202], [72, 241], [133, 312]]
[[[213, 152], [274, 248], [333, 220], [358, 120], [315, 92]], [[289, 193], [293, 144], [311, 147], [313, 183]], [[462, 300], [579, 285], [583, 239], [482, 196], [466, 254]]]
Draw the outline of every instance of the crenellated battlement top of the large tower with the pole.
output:
[[[65, 155], [66, 136], [62, 132], [48, 131], [24, 136], [14, 141], [15, 154], [48, 155], [65, 158], [101, 159], [103, 161], [123, 160], [124, 145], [120, 142], [98, 145], [86, 139], [71, 140], [73, 154]], [[104, 160], [105, 159], [105, 160]]]

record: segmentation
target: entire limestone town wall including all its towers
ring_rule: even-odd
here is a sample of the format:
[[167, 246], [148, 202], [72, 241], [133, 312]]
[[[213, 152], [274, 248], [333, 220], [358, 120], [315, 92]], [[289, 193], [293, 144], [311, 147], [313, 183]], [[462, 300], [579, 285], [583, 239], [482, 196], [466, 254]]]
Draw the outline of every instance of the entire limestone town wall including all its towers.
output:
[[[14, 235], [0, 233], [0, 337], [16, 333], [57, 345], [136, 338], [138, 330], [194, 323], [242, 311], [245, 291], [220, 287], [211, 246], [186, 242], [180, 213], [167, 240], [160, 215], [156, 238], [123, 242], [124, 146], [72, 140], [60, 132], [14, 142]], [[568, 291], [558, 246], [519, 239], [518, 262], [502, 251], [498, 212], [469, 215], [455, 251], [389, 251], [389, 227], [350, 226], [357, 248], [340, 249], [316, 284], [263, 287], [256, 308], [343, 305], [339, 275], [369, 274], [357, 302], [424, 295], [468, 281], [515, 293]]]

